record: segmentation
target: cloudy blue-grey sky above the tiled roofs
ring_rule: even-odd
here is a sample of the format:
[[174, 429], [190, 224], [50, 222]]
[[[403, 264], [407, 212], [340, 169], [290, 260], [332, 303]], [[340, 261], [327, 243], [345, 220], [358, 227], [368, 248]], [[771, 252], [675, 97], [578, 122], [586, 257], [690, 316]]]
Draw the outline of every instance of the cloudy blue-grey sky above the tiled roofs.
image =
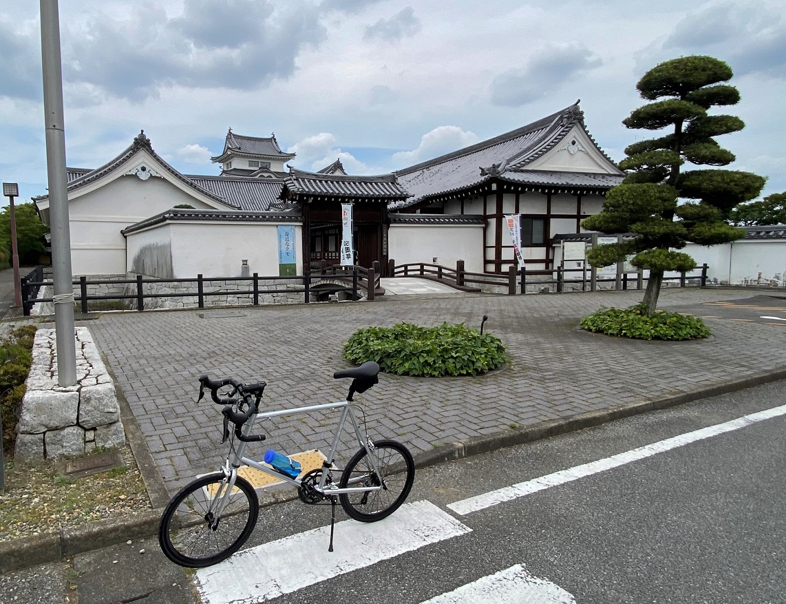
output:
[[[374, 174], [513, 130], [577, 98], [614, 160], [660, 61], [733, 68], [747, 127], [733, 168], [786, 190], [783, 0], [68, 0], [68, 165], [97, 168], [141, 129], [186, 174], [216, 174], [226, 131], [269, 136], [317, 170]], [[0, 179], [46, 190], [38, 2], [0, 6]], [[7, 203], [7, 198], [2, 198]]]

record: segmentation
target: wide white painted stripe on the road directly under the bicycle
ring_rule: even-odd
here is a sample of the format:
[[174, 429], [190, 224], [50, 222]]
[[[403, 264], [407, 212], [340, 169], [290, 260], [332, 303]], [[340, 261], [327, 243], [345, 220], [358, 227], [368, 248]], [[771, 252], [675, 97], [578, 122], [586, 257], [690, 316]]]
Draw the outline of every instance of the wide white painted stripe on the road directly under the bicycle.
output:
[[378, 522], [338, 522], [332, 552], [328, 551], [330, 527], [323, 526], [199, 569], [196, 588], [204, 604], [265, 602], [471, 531], [433, 503], [405, 503]]

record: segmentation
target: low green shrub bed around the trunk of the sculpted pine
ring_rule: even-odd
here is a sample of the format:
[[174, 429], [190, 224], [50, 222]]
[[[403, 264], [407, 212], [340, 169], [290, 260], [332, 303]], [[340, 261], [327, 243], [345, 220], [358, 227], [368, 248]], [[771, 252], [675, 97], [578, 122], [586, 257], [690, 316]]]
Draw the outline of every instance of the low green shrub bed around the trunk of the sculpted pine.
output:
[[601, 308], [579, 325], [587, 331], [636, 340], [697, 340], [710, 335], [710, 328], [698, 317], [668, 311], [655, 311], [648, 316], [644, 304]]

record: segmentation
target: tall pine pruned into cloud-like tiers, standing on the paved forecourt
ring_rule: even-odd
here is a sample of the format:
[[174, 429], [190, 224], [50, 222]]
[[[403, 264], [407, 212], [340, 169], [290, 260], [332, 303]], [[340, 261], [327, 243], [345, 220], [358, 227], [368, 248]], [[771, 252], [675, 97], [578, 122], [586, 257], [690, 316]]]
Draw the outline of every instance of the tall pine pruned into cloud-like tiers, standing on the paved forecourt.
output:
[[619, 167], [626, 178], [608, 192], [601, 213], [582, 221], [588, 230], [635, 234], [622, 244], [598, 245], [588, 258], [593, 266], [604, 267], [633, 255], [634, 267], [648, 269], [648, 315], [658, 304], [663, 273], [696, 267], [691, 256], [675, 250], [689, 242], [715, 245], [743, 238], [744, 230], [726, 219], [736, 204], [754, 199], [764, 186], [765, 179], [750, 172], [681, 171], [685, 162], [725, 166], [735, 160], [714, 138], [740, 131], [745, 124], [735, 116], [707, 113], [740, 100], [736, 88], [725, 84], [732, 75], [728, 64], [713, 57], [673, 59], [645, 73], [636, 87], [642, 98], [653, 102], [635, 109], [623, 124], [665, 132], [625, 149]]

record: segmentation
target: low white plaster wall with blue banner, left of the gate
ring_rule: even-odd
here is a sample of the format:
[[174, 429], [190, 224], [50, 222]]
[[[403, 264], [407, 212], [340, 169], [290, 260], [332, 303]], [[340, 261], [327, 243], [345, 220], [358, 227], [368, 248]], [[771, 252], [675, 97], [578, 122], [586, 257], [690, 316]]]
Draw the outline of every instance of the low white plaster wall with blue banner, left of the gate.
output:
[[303, 229], [292, 223], [186, 223], [171, 224], [175, 278], [239, 277], [242, 260], [248, 272], [278, 274], [277, 226], [295, 227], [296, 274], [303, 273]]

